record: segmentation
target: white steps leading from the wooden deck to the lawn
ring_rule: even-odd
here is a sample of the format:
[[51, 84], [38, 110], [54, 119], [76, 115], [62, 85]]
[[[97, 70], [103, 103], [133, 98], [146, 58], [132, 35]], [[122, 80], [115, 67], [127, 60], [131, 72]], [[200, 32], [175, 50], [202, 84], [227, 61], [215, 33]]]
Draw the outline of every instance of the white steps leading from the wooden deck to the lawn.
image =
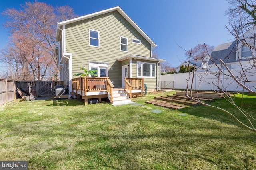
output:
[[[132, 100], [127, 95], [127, 93], [124, 91], [124, 89], [114, 89], [112, 95], [113, 95], [112, 105], [114, 106], [133, 103]], [[108, 94], [109, 99], [110, 97], [111, 97], [110, 94]]]

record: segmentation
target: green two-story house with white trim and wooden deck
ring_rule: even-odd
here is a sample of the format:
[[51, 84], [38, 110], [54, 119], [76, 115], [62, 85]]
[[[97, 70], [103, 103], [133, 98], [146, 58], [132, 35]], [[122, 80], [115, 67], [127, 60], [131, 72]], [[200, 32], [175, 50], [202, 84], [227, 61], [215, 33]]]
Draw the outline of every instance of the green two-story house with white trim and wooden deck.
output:
[[[158, 89], [160, 62], [165, 60], [152, 58], [156, 44], [119, 6], [58, 22], [56, 42], [60, 43], [55, 56], [61, 80], [85, 103], [88, 98], [106, 95], [112, 102], [113, 86], [125, 88], [129, 98], [134, 90], [137, 94], [142, 92], [143, 83], [148, 90]], [[98, 70], [98, 77], [74, 77], [73, 74], [83, 72], [81, 67]], [[128, 87], [133, 90], [131, 93]], [[99, 89], [106, 92], [96, 96]], [[95, 93], [89, 94], [92, 90]]]

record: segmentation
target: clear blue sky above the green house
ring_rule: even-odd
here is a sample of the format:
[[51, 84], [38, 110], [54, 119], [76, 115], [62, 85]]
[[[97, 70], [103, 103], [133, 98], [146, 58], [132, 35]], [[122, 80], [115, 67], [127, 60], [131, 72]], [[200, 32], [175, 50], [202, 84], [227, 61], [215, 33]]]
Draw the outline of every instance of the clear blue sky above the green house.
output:
[[[29, 1], [29, 0], [26, 0]], [[31, 1], [33, 2], [33, 1]], [[79, 16], [120, 6], [132, 20], [158, 45], [159, 58], [176, 67], [186, 60], [185, 51], [198, 43], [218, 45], [233, 41], [226, 29], [226, 0], [38, 0], [54, 7], [68, 5]], [[25, 0], [5, 0], [0, 12], [20, 8]], [[0, 16], [0, 50], [8, 42], [6, 18]], [[181, 49], [182, 47], [183, 49]], [[2, 67], [2, 68], [1, 68]], [[0, 70], [3, 69], [0, 63]]]

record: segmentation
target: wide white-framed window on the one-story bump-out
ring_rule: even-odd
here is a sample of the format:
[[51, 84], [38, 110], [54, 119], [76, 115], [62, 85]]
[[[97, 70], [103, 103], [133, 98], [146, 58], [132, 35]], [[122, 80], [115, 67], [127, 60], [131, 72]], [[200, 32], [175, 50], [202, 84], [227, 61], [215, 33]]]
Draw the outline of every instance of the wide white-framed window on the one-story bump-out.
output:
[[137, 62], [137, 77], [155, 77], [155, 63]]

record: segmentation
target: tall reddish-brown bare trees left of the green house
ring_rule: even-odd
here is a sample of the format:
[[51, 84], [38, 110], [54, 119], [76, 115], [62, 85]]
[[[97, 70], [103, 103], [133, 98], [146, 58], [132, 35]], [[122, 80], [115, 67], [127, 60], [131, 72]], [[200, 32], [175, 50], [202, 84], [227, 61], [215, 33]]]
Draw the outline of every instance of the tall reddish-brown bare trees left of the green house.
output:
[[23, 75], [25, 80], [31, 79], [31, 75], [35, 80], [46, 74], [58, 74], [54, 57], [56, 23], [76, 17], [73, 9], [53, 8], [35, 1], [25, 2], [20, 10], [8, 8], [2, 15], [8, 18], [4, 26], [9, 29], [11, 39], [0, 59], [15, 70], [9, 73]]

